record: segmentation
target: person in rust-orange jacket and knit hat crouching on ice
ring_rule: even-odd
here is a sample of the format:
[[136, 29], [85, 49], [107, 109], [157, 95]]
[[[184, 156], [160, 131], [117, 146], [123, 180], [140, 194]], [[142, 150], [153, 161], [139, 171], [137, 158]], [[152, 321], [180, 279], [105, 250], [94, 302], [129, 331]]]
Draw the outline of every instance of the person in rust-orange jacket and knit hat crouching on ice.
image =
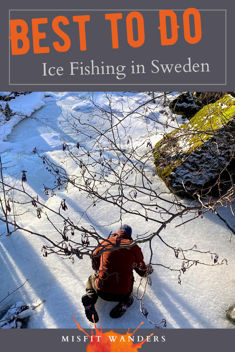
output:
[[[120, 238], [121, 245], [129, 244], [133, 242], [131, 233], [131, 227], [124, 224], [109, 238], [109, 241], [116, 245], [116, 240]], [[105, 249], [115, 247], [107, 241], [102, 241], [101, 244], [107, 244]], [[95, 249], [94, 254], [99, 253], [101, 250], [102, 247], [98, 247]], [[86, 284], [86, 295], [82, 296], [82, 304], [85, 307], [85, 314], [89, 321], [93, 322], [93, 314], [95, 323], [99, 321], [95, 310], [95, 303], [98, 297], [104, 301], [118, 302], [109, 313], [111, 318], [120, 318], [126, 312], [126, 309], [134, 301], [132, 296], [134, 284], [133, 268], [141, 277], [144, 277], [147, 272], [143, 259], [142, 251], [137, 244], [129, 249], [107, 251], [103, 253], [103, 256], [92, 259], [92, 269], [96, 270], [96, 272], [89, 276]]]

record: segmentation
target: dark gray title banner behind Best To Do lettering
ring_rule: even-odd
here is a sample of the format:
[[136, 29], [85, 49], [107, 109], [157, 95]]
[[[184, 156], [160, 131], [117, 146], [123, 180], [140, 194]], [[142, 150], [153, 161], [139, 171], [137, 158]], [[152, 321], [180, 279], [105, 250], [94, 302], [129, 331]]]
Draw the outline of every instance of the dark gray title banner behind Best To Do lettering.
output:
[[[155, 1], [41, 1], [40, 3], [13, 0], [2, 4], [2, 41], [6, 54], [2, 65], [6, 68], [1, 90], [234, 90], [233, 12], [235, 5], [221, 1], [167, 2], [167, 9], [177, 17], [178, 39], [173, 45], [161, 45], [159, 11], [166, 4]], [[184, 35], [183, 14], [196, 7], [200, 13], [202, 38], [188, 43]], [[34, 8], [34, 10], [33, 10]], [[137, 48], [128, 43], [126, 17], [137, 11], [143, 16], [144, 43]], [[117, 20], [118, 48], [113, 49], [111, 21], [105, 14], [121, 13]], [[86, 50], [80, 49], [79, 23], [74, 16], [89, 15], [85, 23]], [[53, 43], [64, 40], [52, 29], [58, 16], [68, 20], [60, 29], [70, 39], [70, 48], [59, 52]], [[34, 53], [32, 19], [47, 18], [38, 31], [45, 33], [39, 46], [47, 53]], [[27, 23], [30, 48], [26, 54], [12, 55], [8, 39], [9, 19]], [[194, 36], [194, 20], [190, 15], [190, 34]], [[138, 40], [137, 20], [134, 18], [133, 39]], [[166, 17], [167, 38], [171, 38], [171, 20]], [[20, 27], [18, 32], [20, 31]], [[20, 40], [18, 46], [20, 48]], [[7, 57], [8, 56], [8, 57]], [[168, 66], [167, 66], [168, 65]], [[108, 66], [108, 68], [107, 68]], [[51, 69], [50, 69], [51, 68]], [[49, 72], [50, 69], [50, 72]], [[160, 89], [161, 88], [161, 89]]]

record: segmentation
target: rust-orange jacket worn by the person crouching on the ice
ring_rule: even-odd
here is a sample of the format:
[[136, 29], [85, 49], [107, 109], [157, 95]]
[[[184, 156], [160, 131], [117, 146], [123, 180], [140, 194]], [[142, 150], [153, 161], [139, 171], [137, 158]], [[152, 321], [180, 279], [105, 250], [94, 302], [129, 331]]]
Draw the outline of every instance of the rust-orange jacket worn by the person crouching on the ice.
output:
[[[119, 235], [121, 244], [129, 244], [133, 240], [125, 231], [118, 231], [109, 238], [109, 241], [116, 244], [117, 235]], [[105, 248], [113, 248], [107, 241], [101, 244], [108, 244]], [[94, 254], [99, 253], [102, 247], [95, 249]], [[116, 251], [107, 251], [99, 257], [92, 259], [92, 268], [98, 270], [98, 278], [95, 279], [95, 287], [105, 293], [125, 294], [129, 293], [133, 280], [132, 265], [136, 263], [134, 270], [138, 275], [143, 277], [147, 268], [144, 263], [141, 248], [136, 244], [129, 249], [117, 249]], [[138, 269], [138, 268], [141, 268]], [[109, 274], [109, 275], [107, 275]], [[112, 275], [113, 274], [113, 275]]]

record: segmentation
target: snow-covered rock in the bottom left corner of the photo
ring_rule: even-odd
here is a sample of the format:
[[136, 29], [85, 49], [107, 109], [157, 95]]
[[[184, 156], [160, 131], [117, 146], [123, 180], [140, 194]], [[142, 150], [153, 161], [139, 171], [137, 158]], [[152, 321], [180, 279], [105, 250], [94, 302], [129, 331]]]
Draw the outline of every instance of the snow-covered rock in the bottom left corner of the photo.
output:
[[21, 319], [27, 318], [31, 313], [32, 309], [27, 309], [23, 302], [16, 302], [1, 319], [0, 328], [20, 329], [24, 326], [24, 322]]

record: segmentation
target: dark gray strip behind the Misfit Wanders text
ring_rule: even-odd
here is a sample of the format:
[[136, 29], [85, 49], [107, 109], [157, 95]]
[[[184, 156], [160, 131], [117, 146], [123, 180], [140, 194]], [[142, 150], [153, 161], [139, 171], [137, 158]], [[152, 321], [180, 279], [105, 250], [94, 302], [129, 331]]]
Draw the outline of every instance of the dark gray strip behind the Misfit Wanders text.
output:
[[[91, 335], [91, 329], [85, 329], [86, 333]], [[109, 331], [104, 329], [103, 332]], [[131, 329], [132, 333], [134, 329]], [[127, 329], [114, 329], [110, 335], [115, 333], [123, 334], [124, 341], [120, 342], [120, 351], [135, 351], [134, 348], [128, 348], [128, 339], [126, 339]], [[93, 333], [94, 329], [93, 329]], [[137, 342], [138, 336], [141, 341], [141, 336], [150, 341], [144, 342], [141, 352], [151, 351], [219, 351], [234, 349], [234, 330], [233, 329], [138, 329], [134, 334], [134, 343]], [[101, 335], [101, 334], [99, 334]], [[79, 338], [77, 338], [79, 336]], [[86, 334], [79, 329], [0, 329], [0, 339], [2, 351], [79, 351], [86, 352], [87, 339]], [[155, 336], [155, 339], [154, 339]], [[64, 337], [64, 338], [63, 338]], [[68, 337], [68, 338], [67, 338]], [[157, 338], [156, 338], [157, 337]], [[81, 341], [79, 341], [79, 339]], [[102, 345], [102, 336], [100, 338], [100, 346]], [[65, 341], [64, 341], [65, 340]], [[93, 337], [93, 340], [94, 337]], [[119, 338], [120, 340], [120, 338]], [[155, 340], [155, 341], [154, 341]], [[164, 341], [165, 340], [165, 341]], [[113, 342], [110, 342], [113, 343]], [[92, 342], [90, 342], [92, 344]], [[131, 343], [132, 344], [132, 343]], [[96, 344], [97, 345], [97, 344]], [[100, 352], [107, 349], [100, 347]], [[91, 350], [92, 351], [92, 350]], [[94, 349], [94, 351], [97, 351]], [[136, 349], [136, 352], [138, 350]]]

